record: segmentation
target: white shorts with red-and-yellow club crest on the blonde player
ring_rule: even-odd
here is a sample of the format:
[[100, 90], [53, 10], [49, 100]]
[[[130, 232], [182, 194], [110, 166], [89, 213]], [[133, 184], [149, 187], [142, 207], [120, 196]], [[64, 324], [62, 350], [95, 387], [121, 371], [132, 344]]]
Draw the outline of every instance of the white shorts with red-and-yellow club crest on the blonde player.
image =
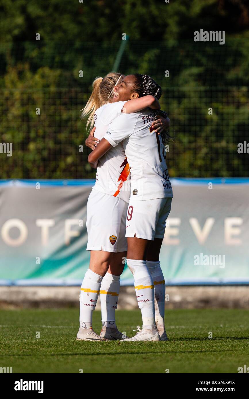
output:
[[88, 251], [127, 251], [127, 207], [128, 203], [121, 198], [92, 190], [88, 197], [86, 216]]

